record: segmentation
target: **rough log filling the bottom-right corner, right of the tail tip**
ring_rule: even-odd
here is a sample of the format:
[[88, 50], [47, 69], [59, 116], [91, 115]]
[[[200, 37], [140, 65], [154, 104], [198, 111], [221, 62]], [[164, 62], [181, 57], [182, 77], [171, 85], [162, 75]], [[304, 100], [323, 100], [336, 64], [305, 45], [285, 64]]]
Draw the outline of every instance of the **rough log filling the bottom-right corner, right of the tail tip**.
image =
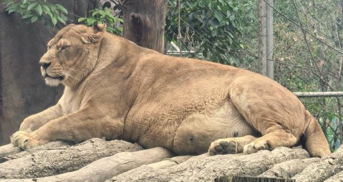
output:
[[340, 172], [343, 166], [343, 145], [334, 153], [322, 158], [316, 163], [308, 165], [300, 173], [292, 177], [297, 182], [319, 182]]

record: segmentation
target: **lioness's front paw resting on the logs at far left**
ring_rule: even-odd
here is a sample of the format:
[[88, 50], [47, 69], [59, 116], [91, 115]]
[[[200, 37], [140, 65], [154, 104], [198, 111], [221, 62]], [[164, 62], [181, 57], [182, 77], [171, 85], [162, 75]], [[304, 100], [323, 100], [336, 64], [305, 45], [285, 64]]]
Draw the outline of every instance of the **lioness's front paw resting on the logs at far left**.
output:
[[48, 140], [38, 139], [35, 132], [17, 131], [11, 136], [11, 143], [22, 150], [32, 149], [48, 143]]

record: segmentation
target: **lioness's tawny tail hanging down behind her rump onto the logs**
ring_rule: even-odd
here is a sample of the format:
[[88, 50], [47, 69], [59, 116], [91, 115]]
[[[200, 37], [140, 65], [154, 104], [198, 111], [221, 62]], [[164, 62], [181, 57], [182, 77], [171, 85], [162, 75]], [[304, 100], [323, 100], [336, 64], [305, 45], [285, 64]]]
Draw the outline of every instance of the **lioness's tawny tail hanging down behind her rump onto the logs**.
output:
[[306, 111], [306, 128], [302, 141], [304, 141], [303, 146], [310, 153], [312, 157], [323, 157], [327, 154], [330, 154], [330, 148], [328, 141], [324, 135], [324, 132], [321, 130], [321, 127], [317, 120], [310, 114], [309, 111]]

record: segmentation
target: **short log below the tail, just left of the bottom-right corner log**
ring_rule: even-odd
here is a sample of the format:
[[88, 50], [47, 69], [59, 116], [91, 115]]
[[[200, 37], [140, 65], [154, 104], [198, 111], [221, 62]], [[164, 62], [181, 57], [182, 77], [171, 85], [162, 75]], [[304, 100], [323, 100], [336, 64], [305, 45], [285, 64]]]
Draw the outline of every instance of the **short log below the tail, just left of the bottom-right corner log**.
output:
[[304, 170], [308, 165], [320, 161], [320, 158], [293, 159], [277, 164], [257, 177], [292, 178]]

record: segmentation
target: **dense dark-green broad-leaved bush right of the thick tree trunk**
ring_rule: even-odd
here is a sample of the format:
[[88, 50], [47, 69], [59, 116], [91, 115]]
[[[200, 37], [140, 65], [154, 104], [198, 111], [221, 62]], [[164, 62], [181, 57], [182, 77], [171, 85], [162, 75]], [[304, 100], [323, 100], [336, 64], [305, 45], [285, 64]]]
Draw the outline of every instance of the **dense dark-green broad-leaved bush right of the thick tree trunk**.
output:
[[[177, 42], [177, 7], [176, 1], [168, 1], [165, 31], [168, 42]], [[202, 53], [206, 59], [222, 64], [239, 63], [238, 57], [231, 52], [243, 47], [237, 41], [240, 35], [236, 18], [239, 10], [233, 1], [181, 1], [180, 8], [183, 49]]]

